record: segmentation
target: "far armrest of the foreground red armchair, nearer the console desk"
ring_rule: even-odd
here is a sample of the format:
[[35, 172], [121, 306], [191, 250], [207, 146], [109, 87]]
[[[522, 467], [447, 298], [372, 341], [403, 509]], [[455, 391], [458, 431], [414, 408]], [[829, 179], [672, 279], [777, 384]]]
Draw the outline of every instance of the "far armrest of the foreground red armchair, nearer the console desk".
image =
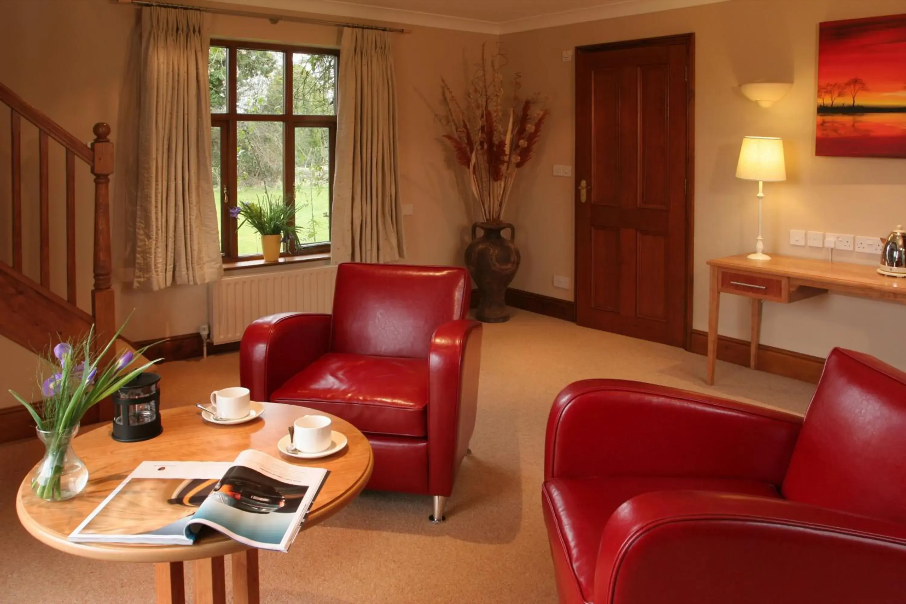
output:
[[782, 484], [802, 417], [617, 379], [564, 388], [547, 420], [545, 479], [708, 476]]

